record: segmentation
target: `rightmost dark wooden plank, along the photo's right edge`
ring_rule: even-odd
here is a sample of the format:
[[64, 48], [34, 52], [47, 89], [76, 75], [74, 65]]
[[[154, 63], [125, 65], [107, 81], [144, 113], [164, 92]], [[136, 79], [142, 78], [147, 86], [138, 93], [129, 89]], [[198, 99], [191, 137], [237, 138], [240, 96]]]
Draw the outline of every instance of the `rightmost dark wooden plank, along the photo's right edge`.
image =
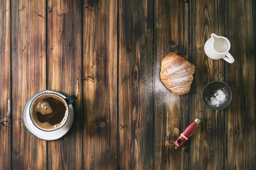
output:
[[226, 34], [233, 64], [226, 64], [226, 81], [239, 84], [227, 108], [225, 122], [225, 169], [256, 167], [256, 2], [227, 0]]

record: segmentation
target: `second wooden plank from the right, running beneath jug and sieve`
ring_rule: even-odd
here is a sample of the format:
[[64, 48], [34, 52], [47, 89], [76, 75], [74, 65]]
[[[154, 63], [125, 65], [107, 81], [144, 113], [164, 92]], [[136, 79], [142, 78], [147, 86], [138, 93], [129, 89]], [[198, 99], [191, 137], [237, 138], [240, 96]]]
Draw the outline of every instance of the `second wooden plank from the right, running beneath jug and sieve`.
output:
[[[201, 91], [218, 73], [224, 74], [224, 60], [212, 60], [204, 53], [204, 43], [211, 33], [224, 36], [224, 1], [198, 0], [191, 3], [191, 62], [195, 65], [190, 121], [198, 117], [205, 106]], [[223, 79], [222, 79], [223, 80]], [[201, 115], [202, 116], [202, 115]], [[191, 169], [222, 169], [224, 166], [224, 111], [207, 111], [190, 139], [189, 167]]]

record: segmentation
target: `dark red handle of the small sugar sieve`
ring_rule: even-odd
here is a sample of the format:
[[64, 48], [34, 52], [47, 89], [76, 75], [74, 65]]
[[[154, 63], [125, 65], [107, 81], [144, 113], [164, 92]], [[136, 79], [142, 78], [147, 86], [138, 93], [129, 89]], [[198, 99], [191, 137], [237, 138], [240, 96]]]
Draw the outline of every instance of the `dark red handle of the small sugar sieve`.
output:
[[195, 129], [198, 127], [199, 123], [200, 123], [199, 118], [195, 118], [195, 120], [190, 122], [190, 124], [183, 130], [183, 132], [180, 133], [180, 136], [174, 142], [174, 144], [177, 147], [181, 147], [189, 139], [189, 137], [195, 132]]

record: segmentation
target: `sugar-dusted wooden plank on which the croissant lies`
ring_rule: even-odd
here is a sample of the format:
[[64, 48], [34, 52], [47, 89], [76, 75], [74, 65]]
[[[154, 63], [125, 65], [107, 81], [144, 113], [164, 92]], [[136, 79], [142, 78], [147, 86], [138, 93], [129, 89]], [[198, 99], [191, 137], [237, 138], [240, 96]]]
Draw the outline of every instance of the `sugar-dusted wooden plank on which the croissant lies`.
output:
[[156, 0], [154, 58], [154, 166], [155, 169], [188, 169], [188, 144], [175, 150], [175, 140], [188, 125], [189, 94], [176, 96], [161, 82], [162, 59], [169, 52], [188, 59], [189, 4], [185, 0]]

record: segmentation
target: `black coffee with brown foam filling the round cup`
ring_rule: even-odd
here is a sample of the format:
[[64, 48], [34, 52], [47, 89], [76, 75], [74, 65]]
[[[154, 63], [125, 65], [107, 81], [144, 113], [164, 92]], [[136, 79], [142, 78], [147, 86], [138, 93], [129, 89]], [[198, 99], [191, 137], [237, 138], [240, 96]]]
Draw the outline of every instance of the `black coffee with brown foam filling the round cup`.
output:
[[33, 102], [31, 116], [35, 124], [45, 130], [63, 125], [67, 118], [67, 106], [61, 97], [55, 94], [43, 94]]

